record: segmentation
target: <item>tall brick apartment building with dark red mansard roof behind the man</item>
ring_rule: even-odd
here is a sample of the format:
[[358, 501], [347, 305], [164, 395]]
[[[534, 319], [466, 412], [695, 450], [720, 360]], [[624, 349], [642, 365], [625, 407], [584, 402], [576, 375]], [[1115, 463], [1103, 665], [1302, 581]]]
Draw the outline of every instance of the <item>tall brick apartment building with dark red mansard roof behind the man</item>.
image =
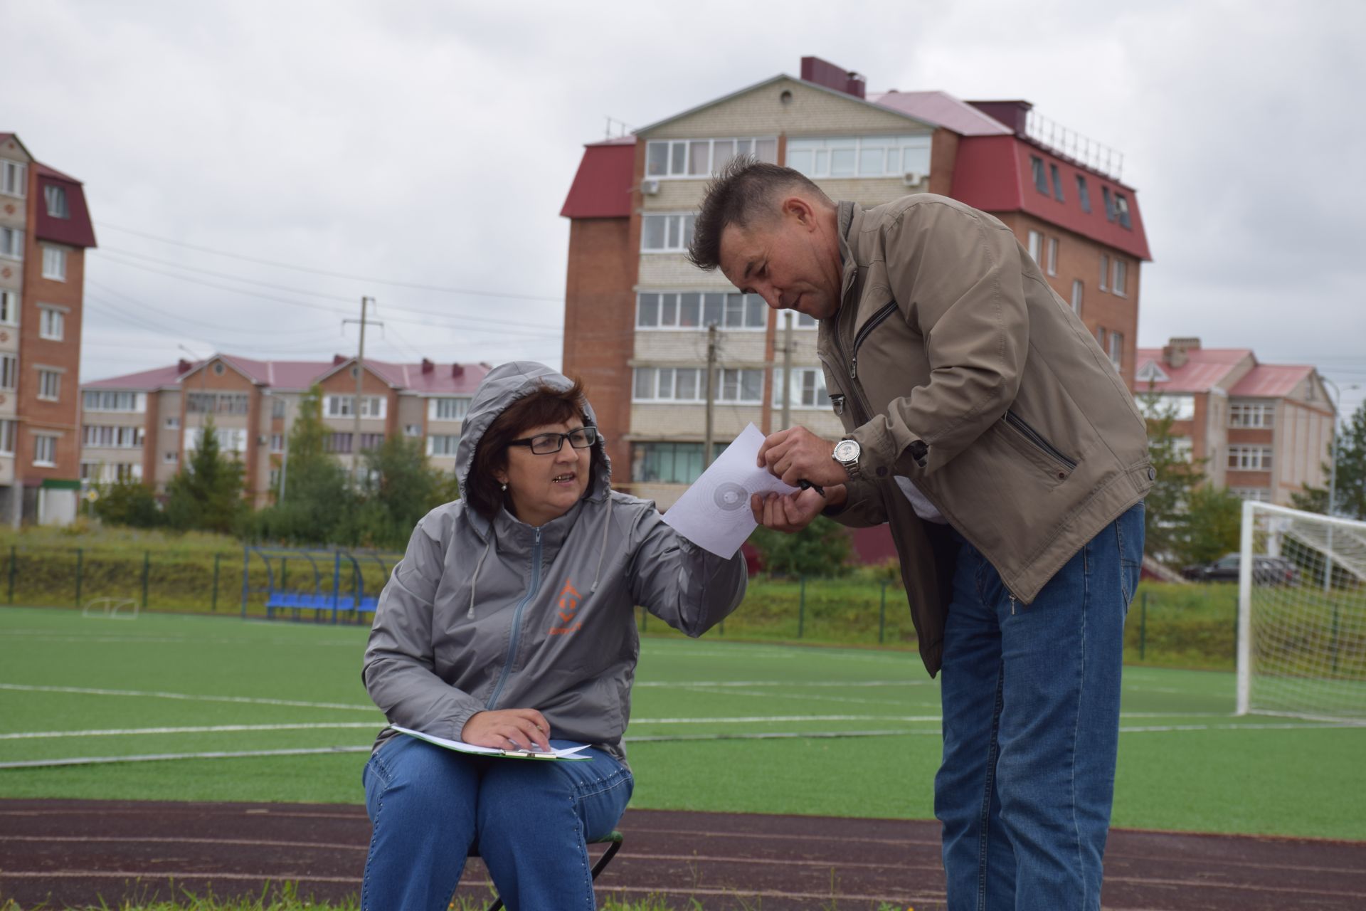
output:
[[589, 387], [616, 483], [667, 508], [702, 471], [713, 324], [717, 441], [750, 422], [779, 429], [784, 400], [791, 423], [841, 433], [816, 322], [776, 314], [687, 262], [708, 179], [742, 154], [802, 171], [833, 199], [874, 206], [937, 193], [996, 214], [1132, 380], [1139, 266], [1150, 255], [1117, 153], [1034, 116], [1027, 101], [869, 94], [863, 76], [803, 57], [800, 78], [777, 75], [585, 146], [561, 209], [564, 369]]

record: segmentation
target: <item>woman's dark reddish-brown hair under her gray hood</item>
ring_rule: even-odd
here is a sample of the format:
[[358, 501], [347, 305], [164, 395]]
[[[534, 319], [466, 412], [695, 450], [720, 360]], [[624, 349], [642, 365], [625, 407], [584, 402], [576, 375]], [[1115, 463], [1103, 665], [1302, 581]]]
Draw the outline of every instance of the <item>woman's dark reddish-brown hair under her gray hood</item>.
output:
[[[493, 419], [489, 429], [484, 432], [484, 437], [479, 438], [460, 496], [474, 507], [475, 512], [485, 519], [492, 519], [507, 496], [500, 489], [503, 485], [493, 477], [493, 473], [507, 467], [508, 443], [525, 437], [531, 428], [564, 423], [571, 418], [579, 418], [585, 426], [593, 423], [587, 414], [587, 396], [583, 392], [583, 384], [578, 380], [574, 380], [568, 389], [556, 389], [541, 382], [534, 391], [510, 404], [503, 410], [503, 414]], [[568, 445], [568, 441], [564, 445]], [[591, 490], [598, 464], [602, 462], [602, 444], [596, 444], [589, 452], [591, 460], [589, 462], [587, 489]]]

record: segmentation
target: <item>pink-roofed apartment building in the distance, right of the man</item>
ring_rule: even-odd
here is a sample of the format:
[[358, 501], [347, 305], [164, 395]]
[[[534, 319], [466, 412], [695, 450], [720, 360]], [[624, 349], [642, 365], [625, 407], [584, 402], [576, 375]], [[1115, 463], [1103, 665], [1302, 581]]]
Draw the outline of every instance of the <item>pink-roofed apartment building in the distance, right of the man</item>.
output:
[[1280, 505], [1306, 483], [1328, 486], [1336, 407], [1314, 367], [1171, 339], [1138, 350], [1132, 389], [1147, 414], [1176, 418], [1177, 451], [1202, 459], [1210, 483]]

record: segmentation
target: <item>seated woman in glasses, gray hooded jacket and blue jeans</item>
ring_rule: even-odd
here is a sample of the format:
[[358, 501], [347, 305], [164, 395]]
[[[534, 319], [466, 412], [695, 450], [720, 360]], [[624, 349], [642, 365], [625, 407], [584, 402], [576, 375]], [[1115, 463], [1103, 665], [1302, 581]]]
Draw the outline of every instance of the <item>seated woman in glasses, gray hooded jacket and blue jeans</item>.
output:
[[579, 384], [540, 363], [484, 378], [456, 455], [462, 499], [414, 530], [362, 672], [393, 724], [500, 748], [587, 743], [593, 761], [380, 732], [363, 774], [366, 911], [445, 911], [471, 845], [510, 910], [594, 908], [586, 845], [634, 787], [635, 606], [698, 636], [744, 595], [739, 555], [694, 546], [611, 489], [594, 423]]

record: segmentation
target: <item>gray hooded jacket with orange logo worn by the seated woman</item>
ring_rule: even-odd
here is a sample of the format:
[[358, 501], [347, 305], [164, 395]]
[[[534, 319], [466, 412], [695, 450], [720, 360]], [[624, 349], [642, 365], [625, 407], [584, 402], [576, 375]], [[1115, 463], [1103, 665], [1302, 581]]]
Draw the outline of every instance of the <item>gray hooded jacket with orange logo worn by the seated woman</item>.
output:
[[[538, 382], [570, 387], [531, 362], [479, 384], [456, 452], [462, 489], [489, 425]], [[586, 422], [597, 422], [591, 407]], [[380, 594], [361, 673], [391, 723], [459, 740], [477, 712], [537, 709], [550, 736], [624, 761], [635, 606], [698, 636], [739, 605], [746, 568], [740, 555], [723, 560], [679, 535], [653, 503], [612, 490], [598, 455], [583, 499], [538, 529], [507, 509], [489, 522], [462, 500], [418, 522]], [[376, 747], [393, 735], [381, 731]]]

